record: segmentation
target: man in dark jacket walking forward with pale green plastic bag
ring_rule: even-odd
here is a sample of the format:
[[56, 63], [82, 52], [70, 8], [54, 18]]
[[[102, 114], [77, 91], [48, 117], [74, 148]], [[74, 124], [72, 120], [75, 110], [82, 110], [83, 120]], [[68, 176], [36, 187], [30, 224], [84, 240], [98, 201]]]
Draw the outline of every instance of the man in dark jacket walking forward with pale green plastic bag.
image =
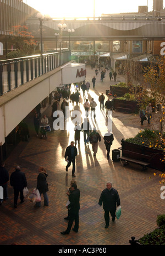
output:
[[120, 197], [118, 191], [113, 189], [111, 182], [107, 182], [107, 189], [103, 190], [98, 201], [98, 205], [102, 206], [103, 202], [103, 209], [105, 210], [105, 221], [106, 226], [109, 226], [109, 212], [112, 216], [112, 221], [114, 222], [116, 217], [116, 206], [120, 205]]

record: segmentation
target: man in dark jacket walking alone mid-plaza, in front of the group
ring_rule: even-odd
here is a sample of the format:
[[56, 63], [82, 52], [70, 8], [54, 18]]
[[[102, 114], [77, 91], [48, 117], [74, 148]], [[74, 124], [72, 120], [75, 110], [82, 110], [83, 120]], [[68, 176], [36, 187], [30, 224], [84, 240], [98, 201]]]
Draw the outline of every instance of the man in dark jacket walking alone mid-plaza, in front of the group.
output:
[[65, 161], [68, 162], [66, 166], [66, 171], [68, 171], [68, 168], [71, 165], [71, 163], [73, 164], [73, 168], [72, 168], [73, 177], [75, 177], [75, 174], [74, 174], [75, 173], [75, 157], [77, 154], [78, 154], [78, 150], [74, 146], [74, 142], [71, 142], [70, 145], [65, 150], [64, 158], [65, 158]]

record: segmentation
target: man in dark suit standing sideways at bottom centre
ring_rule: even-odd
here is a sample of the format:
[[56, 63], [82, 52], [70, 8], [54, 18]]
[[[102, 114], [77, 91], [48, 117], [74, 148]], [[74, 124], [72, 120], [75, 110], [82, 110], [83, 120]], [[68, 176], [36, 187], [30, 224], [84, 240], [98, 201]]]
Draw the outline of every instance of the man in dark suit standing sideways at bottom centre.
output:
[[68, 227], [65, 231], [61, 232], [61, 234], [69, 234], [74, 221], [75, 221], [75, 225], [72, 230], [78, 233], [78, 229], [79, 229], [80, 190], [77, 188], [76, 184], [72, 184], [70, 187], [70, 191], [71, 191], [69, 195], [70, 203], [67, 206], [67, 209], [69, 209]]

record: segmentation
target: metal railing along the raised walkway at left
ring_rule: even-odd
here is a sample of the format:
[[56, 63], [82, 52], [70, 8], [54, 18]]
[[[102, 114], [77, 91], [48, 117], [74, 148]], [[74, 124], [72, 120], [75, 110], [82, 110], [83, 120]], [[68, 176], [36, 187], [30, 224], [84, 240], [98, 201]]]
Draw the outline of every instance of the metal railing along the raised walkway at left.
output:
[[70, 51], [0, 61], [0, 96], [70, 61]]

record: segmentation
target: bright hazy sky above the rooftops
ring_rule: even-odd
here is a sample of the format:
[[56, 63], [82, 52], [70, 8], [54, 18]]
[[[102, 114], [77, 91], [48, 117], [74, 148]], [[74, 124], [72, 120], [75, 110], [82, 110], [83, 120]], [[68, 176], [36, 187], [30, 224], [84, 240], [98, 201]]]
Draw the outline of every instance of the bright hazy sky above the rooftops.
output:
[[138, 12], [138, 6], [148, 4], [152, 11], [153, 0], [23, 0], [24, 3], [52, 18], [100, 17], [102, 13]]

